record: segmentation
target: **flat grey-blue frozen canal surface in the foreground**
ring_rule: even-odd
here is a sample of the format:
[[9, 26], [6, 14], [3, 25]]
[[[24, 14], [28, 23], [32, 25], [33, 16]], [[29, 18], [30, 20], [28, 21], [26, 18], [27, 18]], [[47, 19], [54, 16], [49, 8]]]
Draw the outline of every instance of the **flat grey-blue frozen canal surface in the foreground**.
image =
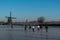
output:
[[49, 27], [48, 32], [45, 28], [35, 32], [24, 30], [24, 26], [0, 26], [0, 40], [60, 40], [60, 27]]

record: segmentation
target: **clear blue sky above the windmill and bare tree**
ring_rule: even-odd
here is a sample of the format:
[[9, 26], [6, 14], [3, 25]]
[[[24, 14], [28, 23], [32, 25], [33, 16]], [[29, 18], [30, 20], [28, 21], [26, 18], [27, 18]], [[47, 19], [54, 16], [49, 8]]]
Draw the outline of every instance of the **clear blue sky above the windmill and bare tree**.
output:
[[60, 21], [60, 0], [0, 0], [0, 21], [12, 13], [15, 21], [36, 20]]

